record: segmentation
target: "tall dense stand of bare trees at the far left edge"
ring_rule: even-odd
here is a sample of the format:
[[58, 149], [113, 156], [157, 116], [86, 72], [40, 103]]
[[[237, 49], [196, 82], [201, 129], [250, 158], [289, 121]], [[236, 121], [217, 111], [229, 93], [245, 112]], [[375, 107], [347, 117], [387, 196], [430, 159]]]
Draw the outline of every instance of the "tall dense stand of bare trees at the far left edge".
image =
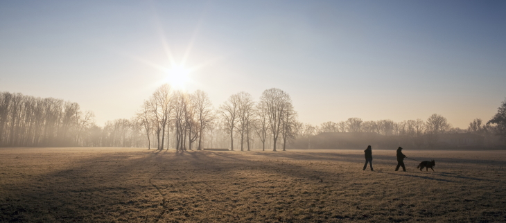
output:
[[0, 146], [85, 144], [93, 122], [93, 112], [75, 102], [0, 92]]

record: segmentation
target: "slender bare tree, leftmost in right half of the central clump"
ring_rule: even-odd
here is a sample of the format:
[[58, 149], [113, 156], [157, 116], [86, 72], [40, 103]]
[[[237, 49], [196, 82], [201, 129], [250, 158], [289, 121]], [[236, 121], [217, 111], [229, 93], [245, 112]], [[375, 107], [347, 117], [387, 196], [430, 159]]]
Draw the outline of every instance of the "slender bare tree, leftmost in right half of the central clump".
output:
[[234, 151], [234, 128], [236, 127], [236, 121], [238, 116], [239, 107], [239, 96], [233, 94], [230, 98], [220, 105], [218, 114], [223, 119], [223, 124], [226, 127], [227, 132], [230, 134], [230, 150]]

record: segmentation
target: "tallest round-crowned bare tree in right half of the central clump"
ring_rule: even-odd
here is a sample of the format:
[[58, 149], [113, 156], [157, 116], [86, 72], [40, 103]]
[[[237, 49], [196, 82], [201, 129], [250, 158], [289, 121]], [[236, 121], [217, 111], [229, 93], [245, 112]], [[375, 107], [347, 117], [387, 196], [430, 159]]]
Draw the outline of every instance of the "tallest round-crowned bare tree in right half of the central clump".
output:
[[263, 91], [260, 100], [265, 103], [267, 108], [269, 128], [272, 133], [272, 145], [274, 147], [272, 151], [276, 151], [277, 139], [283, 127], [283, 116], [286, 114], [288, 106], [292, 105], [292, 100], [288, 93], [277, 88]]

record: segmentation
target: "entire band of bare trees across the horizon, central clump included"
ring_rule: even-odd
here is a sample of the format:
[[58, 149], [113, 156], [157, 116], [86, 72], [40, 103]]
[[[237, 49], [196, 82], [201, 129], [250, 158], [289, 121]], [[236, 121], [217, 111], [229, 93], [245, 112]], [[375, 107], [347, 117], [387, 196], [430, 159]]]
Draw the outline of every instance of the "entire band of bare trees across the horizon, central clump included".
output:
[[258, 101], [250, 93], [239, 92], [215, 109], [204, 91], [173, 91], [164, 84], [132, 118], [107, 121], [100, 127], [95, 124], [93, 112], [81, 111], [76, 102], [0, 92], [0, 146], [285, 150], [309, 148], [309, 141], [317, 139], [313, 136], [324, 132], [398, 136], [396, 139], [418, 147], [432, 146], [438, 134], [466, 132], [483, 136], [485, 145], [497, 145], [503, 143], [498, 140], [505, 132], [500, 119], [503, 116], [499, 110], [486, 124], [476, 118], [466, 130], [451, 127], [438, 114], [426, 121], [348, 118], [311, 125], [297, 120], [290, 96], [280, 89], [263, 91]]

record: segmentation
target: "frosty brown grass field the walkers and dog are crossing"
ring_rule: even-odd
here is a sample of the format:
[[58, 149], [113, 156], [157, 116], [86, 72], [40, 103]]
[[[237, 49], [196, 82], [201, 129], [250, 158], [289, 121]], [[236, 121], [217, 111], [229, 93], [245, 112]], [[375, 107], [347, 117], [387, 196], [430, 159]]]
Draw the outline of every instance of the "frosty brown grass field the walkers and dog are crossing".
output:
[[505, 222], [506, 151], [0, 148], [0, 222]]

